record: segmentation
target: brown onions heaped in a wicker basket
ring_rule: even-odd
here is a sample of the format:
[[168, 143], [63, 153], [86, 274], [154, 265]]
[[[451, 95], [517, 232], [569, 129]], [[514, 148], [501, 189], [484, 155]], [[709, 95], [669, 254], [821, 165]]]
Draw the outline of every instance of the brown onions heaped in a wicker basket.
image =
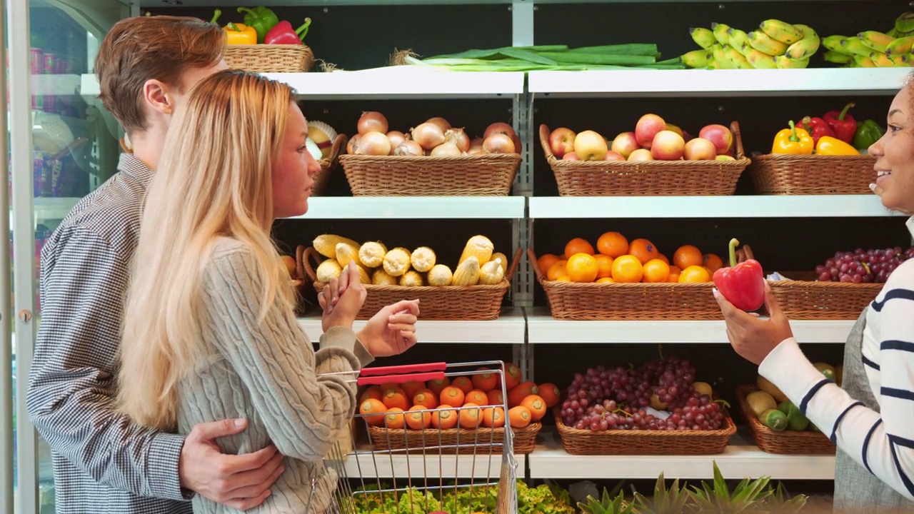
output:
[[456, 157], [460, 155], [519, 154], [520, 138], [508, 123], [486, 127], [482, 137], [470, 136], [452, 127], [444, 118], [434, 117], [407, 132], [390, 130], [387, 117], [375, 111], [363, 112], [357, 134], [349, 139], [349, 155], [399, 155]]

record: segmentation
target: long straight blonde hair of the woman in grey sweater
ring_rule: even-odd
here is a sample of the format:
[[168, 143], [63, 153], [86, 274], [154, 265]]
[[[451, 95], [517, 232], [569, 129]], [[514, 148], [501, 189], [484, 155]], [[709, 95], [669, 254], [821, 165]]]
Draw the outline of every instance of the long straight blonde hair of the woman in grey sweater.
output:
[[202, 272], [216, 238], [257, 256], [261, 319], [277, 298], [292, 307], [270, 238], [271, 162], [290, 102], [285, 84], [226, 70], [201, 80], [175, 114], [145, 198], [123, 317], [118, 404], [135, 423], [175, 426], [177, 386], [204, 352]]

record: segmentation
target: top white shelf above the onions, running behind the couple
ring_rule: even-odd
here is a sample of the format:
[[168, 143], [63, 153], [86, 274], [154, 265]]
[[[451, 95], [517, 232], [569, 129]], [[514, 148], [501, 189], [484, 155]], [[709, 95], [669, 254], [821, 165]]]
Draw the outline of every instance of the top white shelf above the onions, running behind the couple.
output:
[[[393, 66], [332, 73], [264, 75], [289, 84], [306, 99], [497, 98], [524, 92], [524, 73], [515, 72], [453, 72], [416, 66]], [[85, 96], [94, 97], [99, 94], [95, 75], [82, 76], [81, 91]]]

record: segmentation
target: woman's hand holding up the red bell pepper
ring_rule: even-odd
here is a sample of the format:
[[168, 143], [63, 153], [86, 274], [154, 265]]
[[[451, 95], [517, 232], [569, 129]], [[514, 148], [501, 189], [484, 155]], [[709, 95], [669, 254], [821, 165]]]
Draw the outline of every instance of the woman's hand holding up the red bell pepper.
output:
[[781, 344], [781, 341], [793, 337], [790, 321], [781, 312], [781, 306], [778, 305], [767, 282], [765, 307], [771, 316], [769, 319], [761, 319], [756, 314], [749, 314], [736, 308], [717, 289], [714, 290], [714, 297], [720, 305], [720, 312], [724, 314], [730, 345], [743, 359], [758, 366], [772, 349]]

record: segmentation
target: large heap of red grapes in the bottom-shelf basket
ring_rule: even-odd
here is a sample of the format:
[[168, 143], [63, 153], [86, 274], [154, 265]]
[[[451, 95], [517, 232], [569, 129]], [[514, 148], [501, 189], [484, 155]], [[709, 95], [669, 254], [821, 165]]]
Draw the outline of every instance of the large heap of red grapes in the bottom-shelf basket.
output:
[[595, 432], [717, 430], [721, 406], [711, 386], [695, 379], [695, 366], [675, 355], [633, 369], [590, 368], [569, 385], [562, 423]]

